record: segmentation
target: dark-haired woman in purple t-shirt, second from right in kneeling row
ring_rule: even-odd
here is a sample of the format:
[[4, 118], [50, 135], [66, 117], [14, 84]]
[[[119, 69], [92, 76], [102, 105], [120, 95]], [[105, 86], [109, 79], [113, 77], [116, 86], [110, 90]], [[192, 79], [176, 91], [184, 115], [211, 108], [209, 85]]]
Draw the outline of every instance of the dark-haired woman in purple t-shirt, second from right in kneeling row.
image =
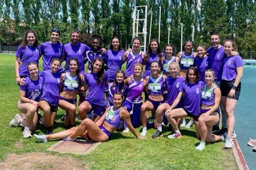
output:
[[[181, 84], [177, 98], [174, 100], [171, 108], [165, 112], [166, 118], [168, 119], [171, 126], [173, 126], [173, 130], [175, 131], [174, 134], [168, 136], [170, 139], [182, 137], [175, 119], [183, 118], [186, 116], [190, 116], [195, 119], [195, 132], [197, 137], [199, 137], [198, 110], [200, 108], [201, 93], [204, 83], [202, 81], [198, 81], [198, 79], [199, 74], [197, 68], [190, 67], [187, 70], [186, 83]], [[184, 107], [174, 109], [181, 100], [182, 96], [184, 96]]]

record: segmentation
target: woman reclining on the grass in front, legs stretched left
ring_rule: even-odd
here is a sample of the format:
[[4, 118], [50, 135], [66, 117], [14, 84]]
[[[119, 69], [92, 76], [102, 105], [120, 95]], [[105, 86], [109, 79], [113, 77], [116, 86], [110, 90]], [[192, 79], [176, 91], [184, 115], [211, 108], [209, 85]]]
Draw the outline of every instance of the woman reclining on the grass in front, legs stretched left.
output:
[[35, 137], [43, 140], [43, 142], [47, 142], [49, 139], [75, 140], [77, 136], [90, 138], [95, 142], [106, 142], [117, 127], [125, 121], [134, 136], [143, 139], [144, 137], [139, 136], [130, 123], [130, 114], [122, 107], [122, 97], [120, 92], [114, 94], [114, 106], [108, 107], [104, 115], [96, 123], [86, 118], [78, 127], [72, 127], [56, 134], [41, 136], [35, 134]]

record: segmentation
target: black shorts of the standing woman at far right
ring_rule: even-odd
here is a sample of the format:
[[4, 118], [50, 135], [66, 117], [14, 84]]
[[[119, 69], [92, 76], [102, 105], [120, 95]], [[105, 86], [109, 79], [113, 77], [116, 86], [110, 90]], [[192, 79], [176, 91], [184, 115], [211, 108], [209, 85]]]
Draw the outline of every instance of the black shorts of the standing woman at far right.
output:
[[[221, 80], [221, 83], [220, 83], [221, 96], [228, 96], [229, 91], [234, 86], [233, 84], [234, 84], [234, 80], [231, 80], [231, 81]], [[238, 84], [236, 88], [236, 92], [234, 94], [233, 99], [238, 100], [240, 96], [240, 92], [241, 92], [241, 82]]]

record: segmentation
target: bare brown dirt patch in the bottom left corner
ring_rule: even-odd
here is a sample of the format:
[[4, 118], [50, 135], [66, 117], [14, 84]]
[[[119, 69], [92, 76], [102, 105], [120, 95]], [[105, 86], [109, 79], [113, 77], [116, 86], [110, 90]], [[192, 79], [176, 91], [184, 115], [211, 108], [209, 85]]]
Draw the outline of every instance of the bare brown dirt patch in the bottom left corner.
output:
[[0, 169], [90, 169], [72, 156], [48, 155], [46, 153], [10, 154], [0, 163]]

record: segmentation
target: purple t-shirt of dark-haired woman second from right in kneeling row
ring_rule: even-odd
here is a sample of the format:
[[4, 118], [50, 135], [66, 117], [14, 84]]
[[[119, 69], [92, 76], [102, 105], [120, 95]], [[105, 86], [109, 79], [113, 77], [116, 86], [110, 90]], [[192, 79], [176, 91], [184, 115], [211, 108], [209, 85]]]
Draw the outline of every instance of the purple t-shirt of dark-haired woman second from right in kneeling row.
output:
[[197, 81], [195, 84], [182, 83], [179, 87], [184, 94], [184, 108], [192, 115], [199, 115], [203, 85], [202, 81]]

